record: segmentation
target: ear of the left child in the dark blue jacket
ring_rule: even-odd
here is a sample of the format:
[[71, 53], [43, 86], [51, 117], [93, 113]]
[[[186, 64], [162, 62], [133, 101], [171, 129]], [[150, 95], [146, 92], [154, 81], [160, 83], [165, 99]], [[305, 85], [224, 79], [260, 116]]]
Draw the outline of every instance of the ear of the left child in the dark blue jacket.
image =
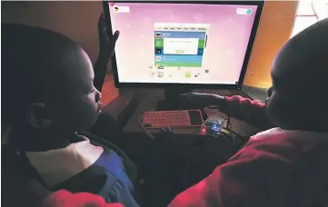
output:
[[25, 113], [27, 123], [37, 129], [47, 129], [53, 123], [50, 112], [43, 103], [28, 104]]

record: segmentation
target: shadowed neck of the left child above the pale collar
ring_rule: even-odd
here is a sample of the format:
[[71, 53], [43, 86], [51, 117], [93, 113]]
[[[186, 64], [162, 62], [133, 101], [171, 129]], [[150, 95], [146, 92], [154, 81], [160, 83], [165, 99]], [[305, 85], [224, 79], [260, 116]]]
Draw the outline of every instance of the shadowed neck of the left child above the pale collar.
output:
[[[45, 152], [67, 147], [70, 143], [77, 142], [75, 133], [48, 133], [48, 132], [25, 132], [12, 133], [11, 142], [18, 151]], [[24, 132], [24, 131], [23, 131]]]

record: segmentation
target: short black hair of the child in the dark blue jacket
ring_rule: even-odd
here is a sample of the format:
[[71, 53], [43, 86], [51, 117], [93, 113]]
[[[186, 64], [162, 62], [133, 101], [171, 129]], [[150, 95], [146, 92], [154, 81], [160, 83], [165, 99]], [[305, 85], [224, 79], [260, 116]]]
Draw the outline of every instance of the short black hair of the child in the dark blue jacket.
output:
[[62, 34], [28, 25], [2, 24], [2, 120], [23, 122], [25, 107], [45, 103], [46, 82], [54, 71], [54, 40], [72, 42]]

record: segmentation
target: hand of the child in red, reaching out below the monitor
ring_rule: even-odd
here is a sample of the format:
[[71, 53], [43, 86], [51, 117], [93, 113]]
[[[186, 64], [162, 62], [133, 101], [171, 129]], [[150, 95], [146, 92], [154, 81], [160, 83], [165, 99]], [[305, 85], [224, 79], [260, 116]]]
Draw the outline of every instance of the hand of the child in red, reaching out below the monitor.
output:
[[225, 98], [217, 94], [189, 93], [181, 94], [179, 101], [183, 109], [203, 109], [209, 105], [215, 105], [220, 109], [225, 103]]

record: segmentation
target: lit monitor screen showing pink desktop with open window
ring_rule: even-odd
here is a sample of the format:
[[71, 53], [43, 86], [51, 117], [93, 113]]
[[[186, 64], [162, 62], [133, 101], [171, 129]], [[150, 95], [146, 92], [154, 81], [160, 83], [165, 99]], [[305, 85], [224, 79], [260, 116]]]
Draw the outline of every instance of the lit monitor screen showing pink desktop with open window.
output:
[[258, 5], [108, 5], [118, 83], [239, 84]]

